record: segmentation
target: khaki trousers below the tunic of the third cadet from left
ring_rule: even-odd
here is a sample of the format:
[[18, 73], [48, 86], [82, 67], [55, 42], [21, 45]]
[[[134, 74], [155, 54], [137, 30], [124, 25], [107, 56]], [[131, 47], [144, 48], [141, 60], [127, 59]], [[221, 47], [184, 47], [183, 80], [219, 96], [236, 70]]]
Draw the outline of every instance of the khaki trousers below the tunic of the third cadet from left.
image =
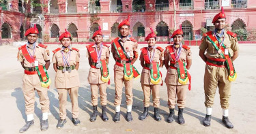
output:
[[91, 104], [98, 105], [98, 90], [100, 89], [100, 105], [106, 105], [107, 83], [91, 84]]

